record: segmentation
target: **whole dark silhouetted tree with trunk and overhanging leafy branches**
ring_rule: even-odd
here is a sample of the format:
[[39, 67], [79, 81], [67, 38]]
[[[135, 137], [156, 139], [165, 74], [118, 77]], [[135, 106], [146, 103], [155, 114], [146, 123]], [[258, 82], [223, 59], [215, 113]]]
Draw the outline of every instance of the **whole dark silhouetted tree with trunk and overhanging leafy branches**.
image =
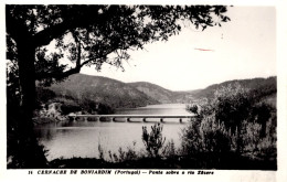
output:
[[[222, 6], [6, 6], [7, 60], [18, 68], [20, 149], [33, 140], [35, 81], [51, 84], [79, 73], [83, 66], [104, 63], [123, 68], [129, 50], [168, 41], [190, 21], [196, 29], [221, 25], [230, 19]], [[54, 45], [51, 52], [47, 45]], [[71, 64], [62, 64], [68, 60]], [[8, 108], [9, 109], [9, 108]], [[29, 132], [28, 132], [29, 131]], [[30, 135], [28, 135], [30, 133]], [[21, 167], [26, 156], [19, 159]]]

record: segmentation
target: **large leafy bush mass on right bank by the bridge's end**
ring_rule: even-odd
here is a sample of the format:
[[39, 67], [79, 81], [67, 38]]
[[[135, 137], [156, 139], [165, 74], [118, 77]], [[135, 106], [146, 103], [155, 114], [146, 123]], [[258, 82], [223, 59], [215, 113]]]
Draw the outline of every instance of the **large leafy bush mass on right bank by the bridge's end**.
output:
[[214, 95], [211, 101], [188, 107], [198, 120], [182, 132], [183, 153], [215, 152], [220, 158], [220, 153], [236, 151], [267, 161], [276, 159], [276, 108], [238, 84]]

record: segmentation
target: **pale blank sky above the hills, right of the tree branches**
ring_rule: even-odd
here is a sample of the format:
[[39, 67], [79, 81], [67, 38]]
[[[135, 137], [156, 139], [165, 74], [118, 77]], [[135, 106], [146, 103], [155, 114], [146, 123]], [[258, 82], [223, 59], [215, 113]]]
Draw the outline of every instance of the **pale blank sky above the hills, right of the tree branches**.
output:
[[[131, 51], [125, 72], [104, 65], [83, 74], [125, 83], [149, 82], [171, 90], [204, 88], [230, 79], [276, 75], [276, 10], [274, 7], [231, 7], [231, 21], [203, 32], [187, 26], [167, 42]], [[212, 50], [200, 51], [198, 49]]]

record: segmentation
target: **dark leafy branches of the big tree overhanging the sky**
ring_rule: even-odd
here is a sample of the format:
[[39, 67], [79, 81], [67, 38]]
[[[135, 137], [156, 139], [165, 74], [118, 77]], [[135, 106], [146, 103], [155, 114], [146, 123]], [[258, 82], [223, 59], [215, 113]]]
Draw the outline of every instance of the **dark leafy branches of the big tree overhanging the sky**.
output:
[[[96, 65], [99, 71], [104, 63], [123, 68], [129, 50], [144, 49], [145, 44], [155, 41], [168, 41], [182, 30], [181, 21], [189, 20], [202, 30], [221, 25], [220, 22], [230, 21], [224, 15], [226, 10], [222, 6], [7, 6], [9, 21], [15, 20], [19, 29], [23, 29], [18, 30], [19, 34], [22, 31], [30, 33], [31, 46], [32, 42], [41, 47], [55, 41], [54, 54], [60, 56], [47, 55], [47, 52], [42, 52], [45, 55], [41, 58], [36, 55], [36, 69], [42, 73], [64, 72], [65, 66], [59, 63], [63, 57], [74, 64], [81, 57], [77, 69]], [[13, 36], [17, 36], [14, 31], [8, 40]], [[17, 60], [13, 43], [8, 41], [7, 44], [8, 58]]]

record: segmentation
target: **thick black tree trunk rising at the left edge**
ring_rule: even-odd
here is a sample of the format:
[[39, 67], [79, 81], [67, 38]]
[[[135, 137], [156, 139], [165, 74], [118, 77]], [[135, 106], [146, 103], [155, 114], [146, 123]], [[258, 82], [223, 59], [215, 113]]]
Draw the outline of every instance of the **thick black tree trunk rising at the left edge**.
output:
[[35, 47], [28, 36], [17, 42], [20, 82], [20, 110], [17, 117], [14, 161], [18, 168], [44, 168], [46, 159], [43, 148], [38, 144], [33, 131], [33, 110], [35, 108]]

